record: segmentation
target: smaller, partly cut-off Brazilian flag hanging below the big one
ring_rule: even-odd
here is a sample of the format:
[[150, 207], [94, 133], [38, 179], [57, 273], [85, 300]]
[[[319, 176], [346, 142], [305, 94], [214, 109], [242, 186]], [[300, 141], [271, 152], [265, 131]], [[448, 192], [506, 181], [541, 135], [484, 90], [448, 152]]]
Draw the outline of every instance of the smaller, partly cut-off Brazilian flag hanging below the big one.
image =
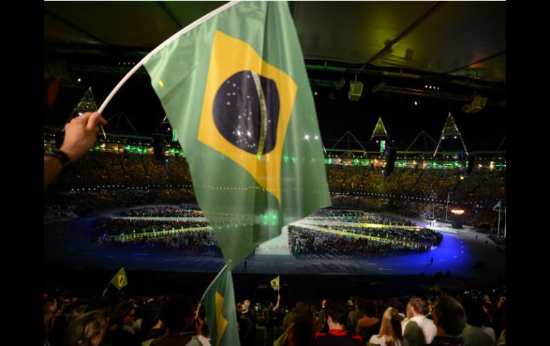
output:
[[239, 346], [239, 330], [233, 293], [231, 270], [226, 269], [204, 297], [206, 324], [211, 337], [211, 345]]

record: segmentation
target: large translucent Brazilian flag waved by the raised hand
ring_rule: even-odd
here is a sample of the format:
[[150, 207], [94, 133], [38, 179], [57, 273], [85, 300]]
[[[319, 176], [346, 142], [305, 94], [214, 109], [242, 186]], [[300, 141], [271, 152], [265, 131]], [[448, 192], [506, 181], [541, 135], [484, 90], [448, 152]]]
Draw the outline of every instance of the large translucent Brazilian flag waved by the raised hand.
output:
[[304, 56], [286, 1], [229, 3], [174, 36], [145, 66], [231, 269], [331, 204]]

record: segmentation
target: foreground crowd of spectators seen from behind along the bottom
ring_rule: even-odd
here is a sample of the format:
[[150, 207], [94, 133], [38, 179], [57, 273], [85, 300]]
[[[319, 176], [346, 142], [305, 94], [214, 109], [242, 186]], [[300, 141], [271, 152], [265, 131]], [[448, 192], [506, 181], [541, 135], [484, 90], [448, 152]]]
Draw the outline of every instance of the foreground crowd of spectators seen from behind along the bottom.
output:
[[[273, 340], [279, 345], [371, 346], [391, 345], [391, 340], [409, 346], [506, 345], [505, 286], [401, 297], [345, 291], [322, 301], [282, 301], [279, 296], [275, 307], [270, 300], [241, 299], [236, 292], [234, 309], [225, 313], [236, 315], [243, 346], [272, 345]], [[195, 315], [197, 307], [189, 294], [105, 290], [101, 296], [76, 297], [58, 289], [44, 294], [44, 345], [160, 345], [170, 337], [181, 337], [179, 345], [191, 340], [199, 343], [189, 345], [211, 345], [204, 303]], [[330, 340], [335, 343], [326, 344]]]

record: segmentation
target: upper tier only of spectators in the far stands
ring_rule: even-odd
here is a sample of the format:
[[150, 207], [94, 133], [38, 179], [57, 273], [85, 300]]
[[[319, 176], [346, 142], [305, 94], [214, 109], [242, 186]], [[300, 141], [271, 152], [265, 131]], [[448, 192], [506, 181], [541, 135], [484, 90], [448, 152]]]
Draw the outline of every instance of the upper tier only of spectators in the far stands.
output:
[[[327, 165], [329, 189], [335, 193], [370, 193], [429, 198], [468, 204], [496, 203], [506, 196], [506, 174], [501, 169], [474, 170], [466, 175], [456, 169], [395, 168], [388, 177], [375, 166]], [[191, 174], [183, 156], [154, 156], [92, 151], [64, 172], [57, 189], [96, 188], [103, 185], [190, 185]], [[486, 202], [485, 202], [486, 201]]]

